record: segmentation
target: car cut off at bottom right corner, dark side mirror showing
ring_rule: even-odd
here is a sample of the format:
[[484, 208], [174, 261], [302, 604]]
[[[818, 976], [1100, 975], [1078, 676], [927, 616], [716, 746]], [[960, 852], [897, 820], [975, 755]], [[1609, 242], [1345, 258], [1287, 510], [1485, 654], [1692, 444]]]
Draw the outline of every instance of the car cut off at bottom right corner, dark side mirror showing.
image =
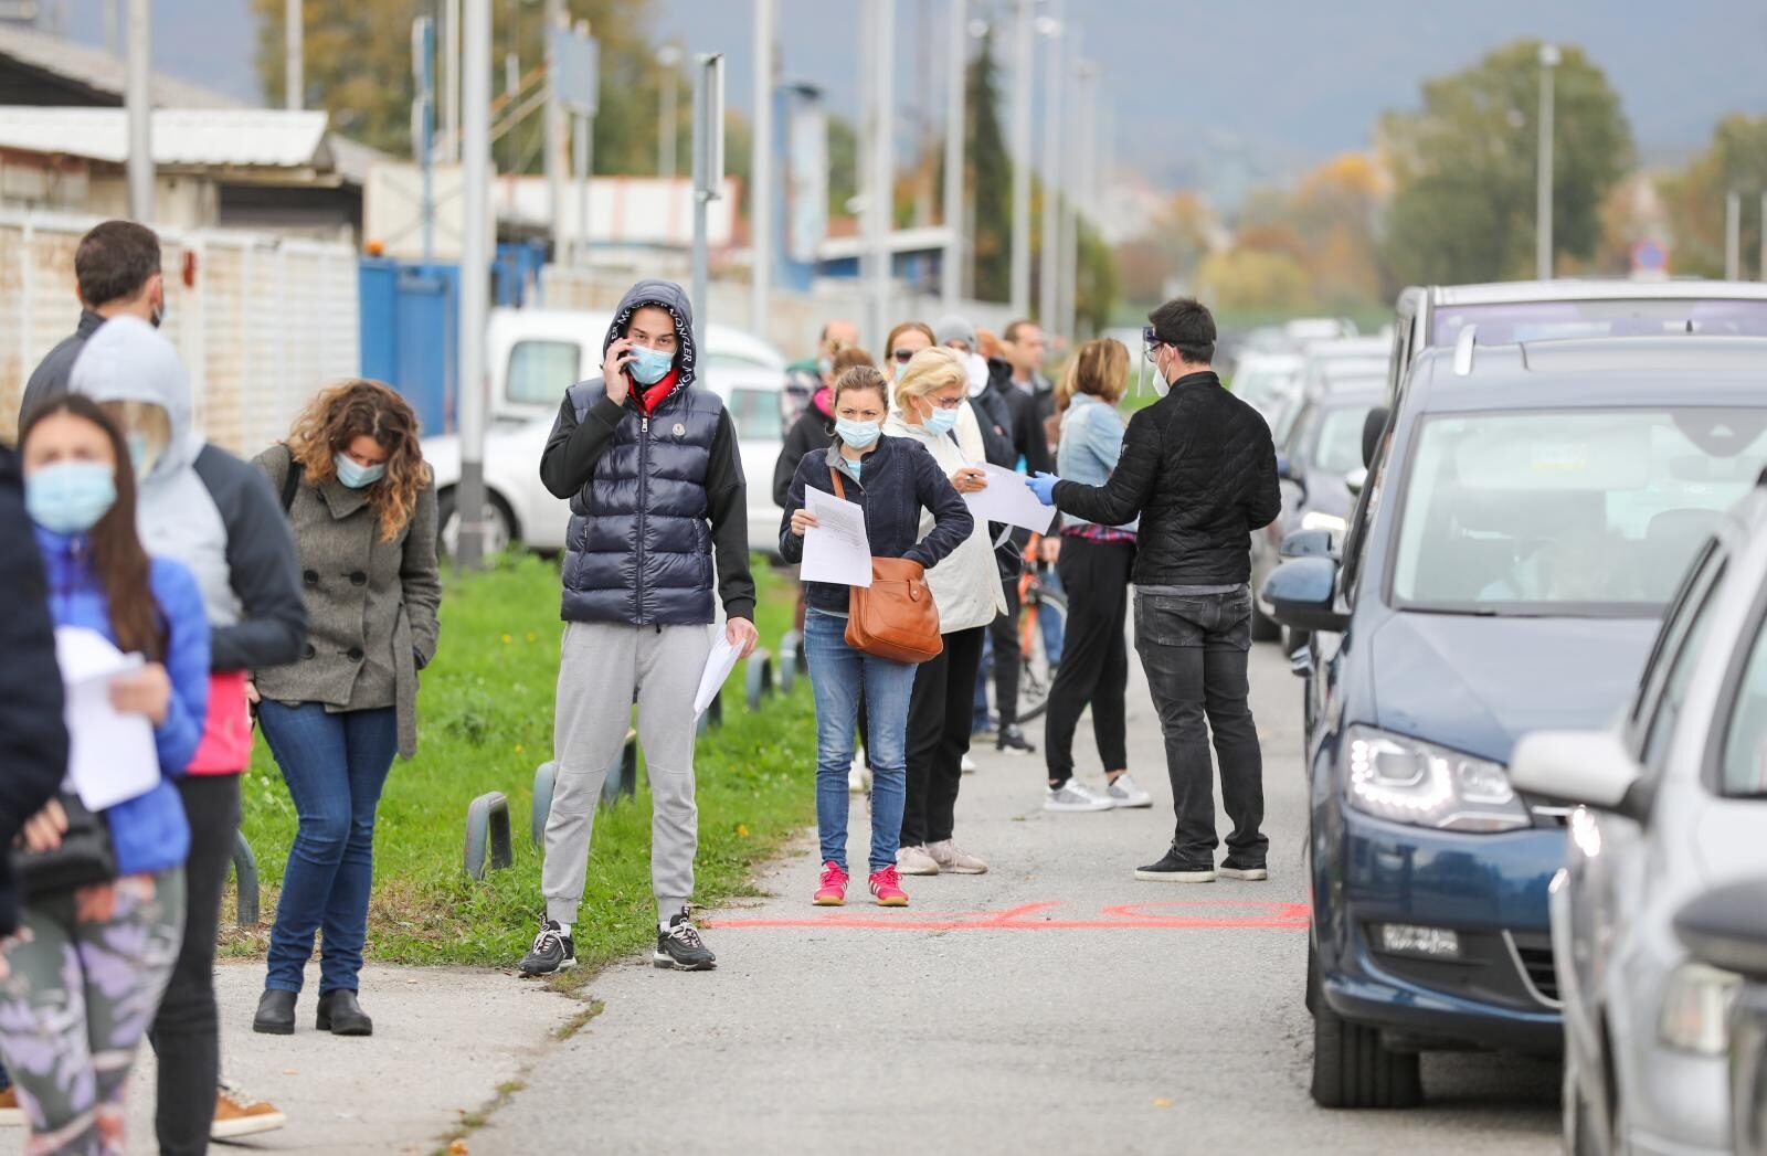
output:
[[1675, 916], [1687, 953], [1742, 976], [1730, 1011], [1730, 1152], [1767, 1156], [1767, 877], [1716, 887]]

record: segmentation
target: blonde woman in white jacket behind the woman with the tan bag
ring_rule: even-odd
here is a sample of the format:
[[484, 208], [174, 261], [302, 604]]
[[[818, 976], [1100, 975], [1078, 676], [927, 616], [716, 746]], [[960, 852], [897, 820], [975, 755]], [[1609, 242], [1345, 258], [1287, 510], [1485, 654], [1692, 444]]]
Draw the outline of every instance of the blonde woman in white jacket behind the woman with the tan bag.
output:
[[[988, 486], [988, 474], [958, 447], [954, 430], [968, 392], [968, 368], [954, 350], [924, 348], [896, 375], [894, 408], [884, 433], [919, 442], [958, 493]], [[921, 534], [931, 532], [922, 514]], [[944, 650], [921, 663], [908, 700], [908, 799], [901, 818], [903, 875], [981, 875], [988, 864], [952, 843], [963, 757], [970, 749], [970, 698], [982, 661], [988, 624], [1005, 610], [988, 525], [975, 523], [963, 543], [928, 571], [938, 606]]]

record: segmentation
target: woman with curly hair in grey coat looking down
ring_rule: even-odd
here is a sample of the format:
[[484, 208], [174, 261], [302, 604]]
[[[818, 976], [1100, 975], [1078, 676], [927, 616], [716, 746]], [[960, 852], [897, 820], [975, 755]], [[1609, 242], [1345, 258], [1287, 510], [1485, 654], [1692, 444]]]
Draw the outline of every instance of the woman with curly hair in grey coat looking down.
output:
[[436, 649], [436, 490], [417, 417], [380, 382], [322, 391], [288, 442], [258, 456], [281, 493], [311, 619], [304, 656], [256, 673], [258, 725], [300, 825], [270, 932], [253, 1031], [295, 1031], [313, 935], [318, 1031], [368, 1036], [357, 1002], [375, 808], [392, 755], [417, 753], [417, 672]]

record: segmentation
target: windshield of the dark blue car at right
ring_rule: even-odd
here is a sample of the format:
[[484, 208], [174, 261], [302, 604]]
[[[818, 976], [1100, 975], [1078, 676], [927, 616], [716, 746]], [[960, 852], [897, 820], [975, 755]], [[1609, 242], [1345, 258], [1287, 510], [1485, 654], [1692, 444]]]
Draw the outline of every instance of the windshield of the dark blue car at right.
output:
[[1654, 617], [1763, 461], [1767, 410], [1426, 419], [1392, 551], [1394, 603]]

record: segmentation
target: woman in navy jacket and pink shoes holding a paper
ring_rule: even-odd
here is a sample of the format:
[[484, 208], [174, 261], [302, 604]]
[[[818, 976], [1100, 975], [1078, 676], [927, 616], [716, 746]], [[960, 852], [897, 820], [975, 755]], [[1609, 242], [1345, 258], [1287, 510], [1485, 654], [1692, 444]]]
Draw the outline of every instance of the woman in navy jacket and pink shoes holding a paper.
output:
[[[797, 465], [779, 525], [779, 553], [804, 559], [804, 532], [816, 516], [804, 491], [834, 493], [834, 472], [848, 502], [866, 511], [873, 557], [910, 559], [931, 569], [970, 536], [975, 520], [933, 454], [905, 438], [884, 437], [889, 385], [871, 366], [855, 366], [834, 384], [834, 444]], [[921, 537], [921, 511], [933, 530]], [[896, 873], [896, 843], [906, 794], [908, 695], [914, 665], [846, 645], [850, 587], [804, 583], [804, 658], [816, 696], [816, 827], [822, 834], [822, 884], [815, 901], [846, 901], [846, 772], [853, 764], [853, 725], [864, 691], [871, 762], [871, 894], [884, 907], [906, 907]]]

